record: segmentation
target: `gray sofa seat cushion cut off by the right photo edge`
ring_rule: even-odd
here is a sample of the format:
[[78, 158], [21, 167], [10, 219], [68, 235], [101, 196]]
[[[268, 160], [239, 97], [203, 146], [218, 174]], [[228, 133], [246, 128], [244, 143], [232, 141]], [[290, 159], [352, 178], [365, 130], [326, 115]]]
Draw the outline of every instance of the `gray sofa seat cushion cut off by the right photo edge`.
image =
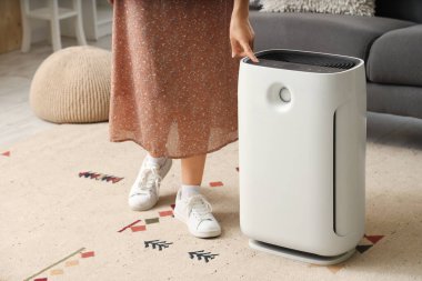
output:
[[422, 86], [422, 24], [386, 32], [373, 44], [366, 63], [372, 82]]

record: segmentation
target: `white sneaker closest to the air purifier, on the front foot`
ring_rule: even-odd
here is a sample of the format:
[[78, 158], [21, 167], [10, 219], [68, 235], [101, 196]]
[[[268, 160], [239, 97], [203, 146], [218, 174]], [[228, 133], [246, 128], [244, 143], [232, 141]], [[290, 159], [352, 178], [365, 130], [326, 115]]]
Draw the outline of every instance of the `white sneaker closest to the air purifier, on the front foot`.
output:
[[219, 222], [212, 215], [212, 207], [202, 194], [182, 198], [182, 189], [175, 197], [174, 218], [188, 224], [189, 231], [199, 238], [221, 234]]

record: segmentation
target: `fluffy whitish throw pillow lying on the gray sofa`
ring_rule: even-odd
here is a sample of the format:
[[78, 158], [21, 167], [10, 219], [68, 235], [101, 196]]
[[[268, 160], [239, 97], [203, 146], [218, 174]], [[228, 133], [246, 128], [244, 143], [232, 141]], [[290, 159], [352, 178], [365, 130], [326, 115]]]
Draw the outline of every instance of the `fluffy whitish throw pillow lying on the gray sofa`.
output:
[[261, 0], [261, 3], [263, 12], [375, 13], [375, 0]]

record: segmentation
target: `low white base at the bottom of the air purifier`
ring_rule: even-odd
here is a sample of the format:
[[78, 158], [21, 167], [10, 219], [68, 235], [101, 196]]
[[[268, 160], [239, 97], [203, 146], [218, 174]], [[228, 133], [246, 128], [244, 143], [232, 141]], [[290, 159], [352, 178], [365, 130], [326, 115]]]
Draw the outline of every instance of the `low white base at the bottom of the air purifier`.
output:
[[301, 251], [279, 247], [279, 245], [273, 245], [273, 244], [260, 242], [253, 239], [249, 240], [249, 247], [259, 251], [264, 251], [268, 253], [282, 255], [292, 260], [302, 261], [302, 262], [312, 263], [312, 264], [319, 264], [319, 265], [330, 265], [330, 264], [340, 263], [342, 261], [348, 260], [355, 252], [355, 249], [353, 248], [352, 250], [343, 254], [339, 254], [334, 257], [325, 257], [325, 255], [318, 255], [313, 253], [301, 252]]

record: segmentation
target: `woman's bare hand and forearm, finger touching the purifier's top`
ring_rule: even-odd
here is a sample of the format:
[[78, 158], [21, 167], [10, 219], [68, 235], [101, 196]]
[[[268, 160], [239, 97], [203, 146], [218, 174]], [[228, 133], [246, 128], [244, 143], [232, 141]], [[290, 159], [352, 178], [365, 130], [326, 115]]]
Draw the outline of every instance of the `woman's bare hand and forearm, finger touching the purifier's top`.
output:
[[259, 62], [253, 53], [254, 32], [249, 22], [249, 0], [233, 0], [233, 13], [230, 21], [230, 43], [233, 58], [249, 57]]

